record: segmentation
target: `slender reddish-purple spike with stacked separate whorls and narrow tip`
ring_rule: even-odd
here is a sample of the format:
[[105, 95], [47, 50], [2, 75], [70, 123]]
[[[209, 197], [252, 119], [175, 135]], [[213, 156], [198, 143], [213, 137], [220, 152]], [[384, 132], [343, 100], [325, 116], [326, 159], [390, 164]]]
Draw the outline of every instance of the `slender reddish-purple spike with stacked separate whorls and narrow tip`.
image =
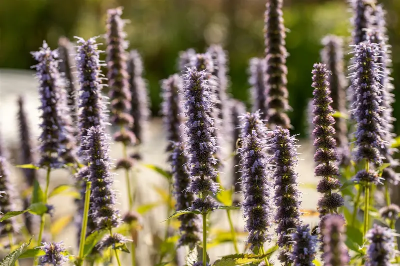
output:
[[312, 70], [313, 91], [313, 114], [312, 120], [315, 125], [312, 134], [314, 136], [314, 146], [316, 148], [314, 161], [318, 164], [315, 167], [315, 176], [322, 179], [318, 182], [317, 191], [323, 196], [318, 200], [318, 212], [320, 216], [327, 213], [335, 213], [337, 208], [344, 204], [344, 200], [339, 193], [332, 190], [339, 189], [341, 184], [336, 178], [339, 169], [336, 165], [337, 152], [336, 142], [332, 137], [335, 133], [334, 118], [332, 117], [332, 99], [328, 82], [329, 72], [325, 64], [314, 64]]

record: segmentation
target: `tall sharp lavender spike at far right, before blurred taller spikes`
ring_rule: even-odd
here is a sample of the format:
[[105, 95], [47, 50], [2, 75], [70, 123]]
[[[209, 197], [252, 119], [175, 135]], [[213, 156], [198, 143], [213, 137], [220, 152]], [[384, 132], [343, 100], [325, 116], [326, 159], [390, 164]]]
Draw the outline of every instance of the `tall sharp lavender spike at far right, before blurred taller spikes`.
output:
[[353, 116], [357, 123], [355, 131], [354, 160], [365, 159], [377, 165], [382, 163], [381, 148], [384, 147], [383, 119], [381, 117], [380, 83], [381, 68], [376, 63], [379, 56], [376, 43], [362, 42], [354, 48], [352, 86], [357, 99], [352, 103]]

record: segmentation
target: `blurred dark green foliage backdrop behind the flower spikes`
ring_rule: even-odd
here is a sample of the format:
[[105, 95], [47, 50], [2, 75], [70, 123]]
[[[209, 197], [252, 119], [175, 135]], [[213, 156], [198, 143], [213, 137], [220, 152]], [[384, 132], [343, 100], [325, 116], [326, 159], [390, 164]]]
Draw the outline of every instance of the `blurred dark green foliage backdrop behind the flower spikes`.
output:
[[[400, 0], [382, 2], [388, 10], [393, 77], [399, 87], [395, 73], [400, 73]], [[106, 9], [116, 6], [124, 6], [123, 18], [130, 20], [125, 28], [130, 48], [143, 55], [154, 115], [159, 110], [159, 80], [176, 71], [178, 51], [193, 47], [201, 52], [210, 43], [222, 43], [228, 51], [230, 93], [249, 104], [247, 66], [250, 57], [263, 55], [265, 0], [1, 0], [0, 68], [29, 68], [34, 64], [29, 51], [43, 39], [55, 48], [60, 35], [72, 39], [103, 34]], [[349, 36], [348, 9], [345, 0], [285, 1], [295, 133], [304, 134], [306, 102], [312, 96], [310, 71], [320, 60], [320, 39], [328, 33]], [[394, 116], [400, 117], [400, 101]]]

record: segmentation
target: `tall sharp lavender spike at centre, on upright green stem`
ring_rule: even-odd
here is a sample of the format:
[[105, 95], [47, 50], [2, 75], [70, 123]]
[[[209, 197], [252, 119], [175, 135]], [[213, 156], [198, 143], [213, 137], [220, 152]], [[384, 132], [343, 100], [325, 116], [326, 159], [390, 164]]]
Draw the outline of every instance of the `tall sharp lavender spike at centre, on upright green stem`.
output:
[[184, 76], [183, 100], [185, 116], [185, 132], [187, 135], [186, 152], [189, 160], [189, 177], [192, 180], [188, 191], [195, 193], [191, 209], [207, 213], [217, 207], [208, 194], [216, 194], [218, 185], [214, 158], [216, 151], [215, 137], [211, 113], [210, 88], [205, 79], [204, 71], [189, 68]]

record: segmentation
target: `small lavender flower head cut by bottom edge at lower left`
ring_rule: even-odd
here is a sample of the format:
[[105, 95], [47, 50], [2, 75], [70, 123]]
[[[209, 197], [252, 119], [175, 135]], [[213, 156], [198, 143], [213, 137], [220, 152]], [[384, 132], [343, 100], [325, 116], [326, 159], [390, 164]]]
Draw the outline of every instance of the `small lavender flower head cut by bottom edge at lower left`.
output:
[[42, 243], [39, 249], [45, 253], [39, 256], [40, 266], [62, 266], [69, 261], [68, 256], [65, 255], [66, 247], [62, 242]]

